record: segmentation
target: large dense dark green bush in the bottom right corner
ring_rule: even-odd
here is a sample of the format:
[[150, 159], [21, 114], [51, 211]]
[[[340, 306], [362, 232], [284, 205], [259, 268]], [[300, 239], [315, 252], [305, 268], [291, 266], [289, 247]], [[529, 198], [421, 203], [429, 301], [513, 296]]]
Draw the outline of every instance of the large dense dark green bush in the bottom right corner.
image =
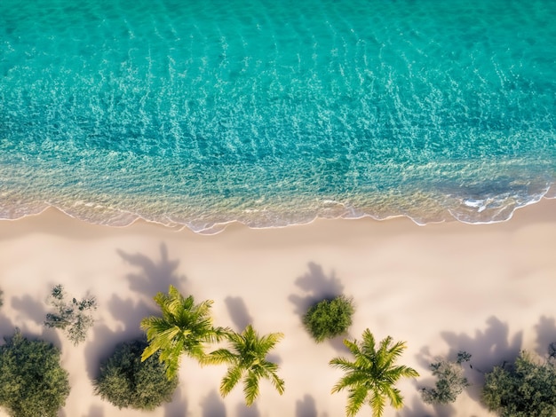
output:
[[556, 365], [522, 351], [513, 366], [496, 366], [485, 375], [482, 399], [504, 417], [556, 415]]

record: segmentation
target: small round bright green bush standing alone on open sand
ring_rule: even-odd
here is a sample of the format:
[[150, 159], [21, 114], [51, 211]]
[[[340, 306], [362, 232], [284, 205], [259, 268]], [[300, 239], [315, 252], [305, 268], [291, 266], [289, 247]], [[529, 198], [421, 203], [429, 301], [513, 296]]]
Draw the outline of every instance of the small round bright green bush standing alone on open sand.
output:
[[353, 301], [345, 295], [314, 304], [303, 317], [303, 324], [316, 342], [345, 334], [352, 325]]

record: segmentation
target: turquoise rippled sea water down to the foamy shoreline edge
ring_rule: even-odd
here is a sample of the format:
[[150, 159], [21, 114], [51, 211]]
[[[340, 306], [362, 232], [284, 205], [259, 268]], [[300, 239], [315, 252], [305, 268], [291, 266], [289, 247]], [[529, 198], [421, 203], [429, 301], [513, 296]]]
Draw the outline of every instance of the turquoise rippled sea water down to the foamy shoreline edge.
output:
[[555, 20], [552, 0], [3, 0], [0, 218], [505, 220], [556, 178]]

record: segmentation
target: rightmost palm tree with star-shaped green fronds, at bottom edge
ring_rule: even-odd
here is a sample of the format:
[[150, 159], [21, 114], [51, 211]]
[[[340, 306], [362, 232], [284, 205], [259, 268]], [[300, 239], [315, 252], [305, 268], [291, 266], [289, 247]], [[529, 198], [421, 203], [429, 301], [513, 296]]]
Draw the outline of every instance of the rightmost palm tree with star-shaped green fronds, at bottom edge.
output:
[[375, 347], [375, 338], [366, 329], [362, 342], [356, 340], [344, 341], [355, 360], [333, 358], [330, 365], [338, 367], [346, 374], [332, 389], [332, 393], [347, 389], [346, 415], [353, 416], [368, 403], [373, 410], [373, 417], [380, 417], [384, 413], [386, 399], [394, 408], [401, 408], [403, 397], [394, 384], [402, 377], [417, 377], [417, 371], [409, 366], [394, 366], [395, 360], [405, 350], [405, 342], [393, 343], [392, 337], [386, 337]]

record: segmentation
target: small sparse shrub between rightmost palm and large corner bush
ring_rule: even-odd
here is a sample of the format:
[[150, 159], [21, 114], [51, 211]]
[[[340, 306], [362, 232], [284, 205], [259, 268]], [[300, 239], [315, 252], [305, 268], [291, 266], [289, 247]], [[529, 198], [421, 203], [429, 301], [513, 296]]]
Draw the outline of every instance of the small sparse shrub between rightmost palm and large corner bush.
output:
[[462, 362], [467, 362], [469, 359], [471, 355], [461, 351], [457, 354], [455, 363], [442, 359], [431, 364], [433, 375], [438, 379], [435, 388], [421, 390], [423, 401], [427, 404], [449, 404], [456, 401], [457, 396], [469, 386], [461, 366]]

